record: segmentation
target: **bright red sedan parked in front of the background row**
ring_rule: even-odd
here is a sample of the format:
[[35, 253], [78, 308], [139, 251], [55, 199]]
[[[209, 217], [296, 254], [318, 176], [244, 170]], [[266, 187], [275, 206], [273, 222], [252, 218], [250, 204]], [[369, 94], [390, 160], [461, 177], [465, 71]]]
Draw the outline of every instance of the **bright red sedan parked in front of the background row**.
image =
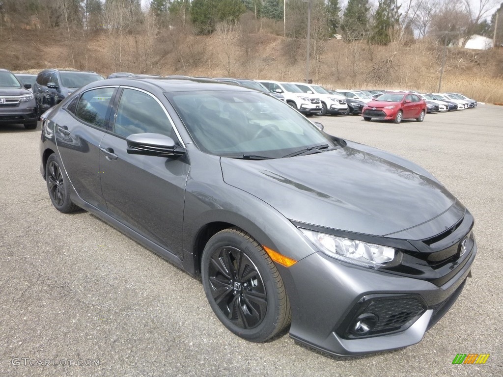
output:
[[384, 93], [370, 101], [363, 108], [362, 116], [366, 121], [372, 118], [392, 120], [400, 123], [402, 119], [415, 119], [423, 122], [426, 115], [426, 102], [414, 93]]

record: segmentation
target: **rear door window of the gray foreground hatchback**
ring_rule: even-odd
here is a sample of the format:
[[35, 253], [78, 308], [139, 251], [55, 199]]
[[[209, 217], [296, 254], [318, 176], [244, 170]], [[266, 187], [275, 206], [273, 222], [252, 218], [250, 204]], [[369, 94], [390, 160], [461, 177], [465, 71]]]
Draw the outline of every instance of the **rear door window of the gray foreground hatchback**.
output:
[[106, 129], [107, 112], [113, 93], [113, 87], [86, 91], [78, 101], [75, 116], [93, 126]]

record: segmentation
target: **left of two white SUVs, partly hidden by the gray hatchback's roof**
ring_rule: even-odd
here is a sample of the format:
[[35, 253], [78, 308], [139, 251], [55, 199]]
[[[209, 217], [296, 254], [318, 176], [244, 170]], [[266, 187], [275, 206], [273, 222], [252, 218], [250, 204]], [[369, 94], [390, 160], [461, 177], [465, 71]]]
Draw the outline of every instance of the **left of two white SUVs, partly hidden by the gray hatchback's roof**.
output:
[[291, 107], [297, 109], [305, 116], [319, 114], [321, 111], [321, 101], [319, 97], [304, 93], [297, 86], [288, 82], [257, 80], [269, 90], [281, 93], [285, 96], [285, 101]]

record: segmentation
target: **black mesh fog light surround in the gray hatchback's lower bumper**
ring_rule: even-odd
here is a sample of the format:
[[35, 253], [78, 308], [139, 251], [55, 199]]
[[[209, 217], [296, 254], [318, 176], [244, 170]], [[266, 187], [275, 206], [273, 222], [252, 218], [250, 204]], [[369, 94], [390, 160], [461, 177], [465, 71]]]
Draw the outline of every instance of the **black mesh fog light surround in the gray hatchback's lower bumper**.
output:
[[[338, 333], [345, 338], [362, 338], [404, 331], [425, 311], [426, 305], [418, 295], [369, 295], [362, 298], [346, 317]], [[371, 330], [365, 334], [355, 334], [355, 324], [366, 316], [375, 318]]]

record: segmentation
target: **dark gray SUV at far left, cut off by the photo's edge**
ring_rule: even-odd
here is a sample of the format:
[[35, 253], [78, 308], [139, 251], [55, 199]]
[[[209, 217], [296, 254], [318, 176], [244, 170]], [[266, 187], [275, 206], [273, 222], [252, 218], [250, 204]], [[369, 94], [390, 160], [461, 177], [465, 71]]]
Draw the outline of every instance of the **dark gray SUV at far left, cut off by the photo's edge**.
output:
[[22, 84], [7, 69], [0, 69], [0, 124], [23, 124], [27, 130], [37, 128], [37, 103], [30, 84]]

